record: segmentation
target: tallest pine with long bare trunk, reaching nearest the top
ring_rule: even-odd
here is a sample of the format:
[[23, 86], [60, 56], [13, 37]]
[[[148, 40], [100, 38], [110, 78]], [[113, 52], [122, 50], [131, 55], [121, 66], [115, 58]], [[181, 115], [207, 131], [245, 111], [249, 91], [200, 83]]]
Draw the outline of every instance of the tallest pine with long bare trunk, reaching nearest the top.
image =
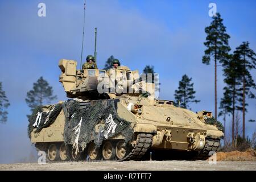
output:
[[214, 61], [214, 117], [217, 119], [217, 61], [221, 64], [227, 60], [228, 52], [230, 51], [228, 39], [230, 36], [226, 34], [226, 27], [222, 23], [220, 13], [213, 16], [213, 21], [209, 27], [205, 28], [207, 34], [206, 42], [204, 46], [207, 49], [204, 51], [203, 63], [209, 65], [210, 59]]

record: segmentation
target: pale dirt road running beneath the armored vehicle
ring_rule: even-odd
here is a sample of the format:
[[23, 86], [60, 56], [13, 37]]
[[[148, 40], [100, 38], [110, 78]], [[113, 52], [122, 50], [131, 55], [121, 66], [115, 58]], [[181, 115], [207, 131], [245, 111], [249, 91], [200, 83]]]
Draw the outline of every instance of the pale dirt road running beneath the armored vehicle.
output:
[[180, 171], [180, 170], [207, 170], [207, 171], [232, 171], [254, 170], [256, 162], [221, 161], [209, 164], [208, 161], [129, 161], [129, 162], [66, 162], [66, 163], [17, 163], [0, 164], [0, 170], [142, 170], [142, 171]]

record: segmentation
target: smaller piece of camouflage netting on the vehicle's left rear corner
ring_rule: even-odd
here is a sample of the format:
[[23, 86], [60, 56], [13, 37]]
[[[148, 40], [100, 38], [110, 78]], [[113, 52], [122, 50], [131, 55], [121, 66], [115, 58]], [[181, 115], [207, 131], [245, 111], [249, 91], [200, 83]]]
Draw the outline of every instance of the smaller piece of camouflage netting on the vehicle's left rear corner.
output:
[[[44, 109], [48, 111], [44, 111]], [[36, 129], [35, 132], [39, 133], [44, 127], [50, 126], [59, 115], [61, 109], [62, 104], [36, 107], [28, 119], [28, 137], [31, 138], [33, 129]], [[40, 114], [42, 114], [41, 117]]]

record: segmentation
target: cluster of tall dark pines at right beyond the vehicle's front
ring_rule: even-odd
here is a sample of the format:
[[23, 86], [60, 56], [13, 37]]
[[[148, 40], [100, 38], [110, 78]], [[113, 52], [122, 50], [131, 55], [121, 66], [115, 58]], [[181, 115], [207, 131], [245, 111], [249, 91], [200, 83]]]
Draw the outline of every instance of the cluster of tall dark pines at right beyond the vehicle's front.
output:
[[[230, 53], [229, 46], [230, 36], [226, 33], [226, 27], [220, 13], [213, 16], [210, 26], [205, 28], [207, 34], [202, 59], [203, 64], [210, 64], [210, 60], [214, 61], [214, 116], [224, 117], [226, 122], [226, 114], [232, 115], [232, 146], [235, 140], [235, 113], [242, 111], [242, 139], [245, 140], [245, 113], [248, 104], [247, 98], [255, 98], [253, 89], [256, 89], [251, 70], [255, 69], [256, 58], [253, 49], [249, 47], [249, 42], [242, 42], [233, 53]], [[219, 113], [217, 112], [217, 64], [222, 66], [225, 87], [224, 94], [221, 98]], [[224, 124], [225, 125], [225, 124]]]

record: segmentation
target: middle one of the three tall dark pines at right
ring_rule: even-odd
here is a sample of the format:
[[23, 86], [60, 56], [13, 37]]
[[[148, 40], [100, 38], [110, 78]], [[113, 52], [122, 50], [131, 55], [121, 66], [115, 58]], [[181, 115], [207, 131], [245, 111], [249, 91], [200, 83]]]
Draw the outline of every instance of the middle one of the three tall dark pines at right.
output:
[[236, 55], [230, 55], [229, 61], [226, 61], [223, 66], [226, 86], [224, 87], [224, 97], [221, 99], [220, 108], [222, 112], [232, 114], [232, 146], [234, 147], [235, 111], [241, 110], [241, 64]]

